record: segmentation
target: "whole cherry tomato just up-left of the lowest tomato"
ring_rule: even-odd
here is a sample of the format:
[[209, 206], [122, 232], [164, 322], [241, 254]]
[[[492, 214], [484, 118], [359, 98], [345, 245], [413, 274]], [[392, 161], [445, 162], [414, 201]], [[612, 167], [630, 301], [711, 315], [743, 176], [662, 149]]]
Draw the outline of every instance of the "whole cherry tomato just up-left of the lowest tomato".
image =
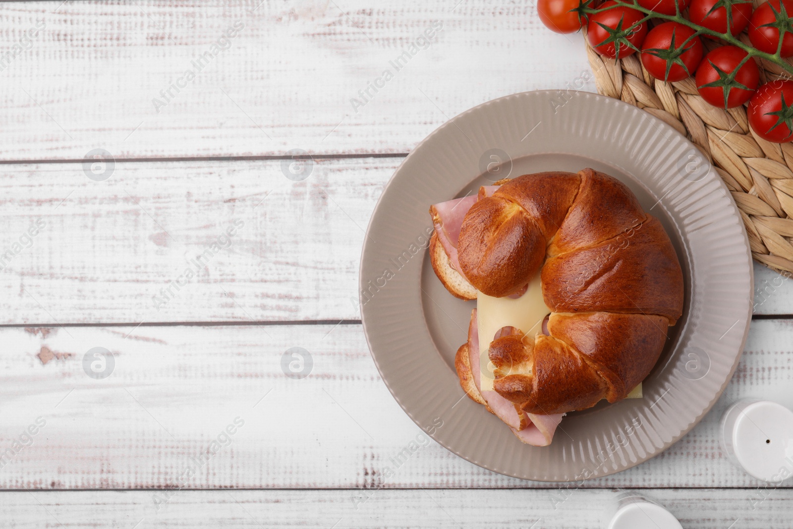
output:
[[699, 95], [722, 109], [731, 109], [749, 101], [760, 84], [760, 70], [754, 59], [746, 60], [736, 70], [746, 55], [737, 46], [722, 46], [708, 53], [696, 71]]

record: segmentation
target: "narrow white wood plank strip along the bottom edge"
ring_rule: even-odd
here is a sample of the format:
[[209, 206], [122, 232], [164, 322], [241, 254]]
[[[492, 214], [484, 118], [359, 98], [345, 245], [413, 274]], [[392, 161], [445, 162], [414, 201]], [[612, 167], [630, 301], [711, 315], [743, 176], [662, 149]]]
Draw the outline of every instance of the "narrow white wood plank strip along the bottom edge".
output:
[[[787, 529], [791, 489], [642, 489], [686, 529]], [[610, 490], [155, 491], [0, 493], [7, 527], [605, 527]], [[760, 496], [762, 494], [763, 496]], [[755, 499], [755, 496], [763, 500]], [[560, 503], [561, 502], [561, 503]], [[159, 510], [158, 510], [159, 507]], [[140, 525], [136, 526], [136, 523]], [[532, 525], [534, 523], [534, 525]], [[335, 525], [334, 525], [335, 524]]]

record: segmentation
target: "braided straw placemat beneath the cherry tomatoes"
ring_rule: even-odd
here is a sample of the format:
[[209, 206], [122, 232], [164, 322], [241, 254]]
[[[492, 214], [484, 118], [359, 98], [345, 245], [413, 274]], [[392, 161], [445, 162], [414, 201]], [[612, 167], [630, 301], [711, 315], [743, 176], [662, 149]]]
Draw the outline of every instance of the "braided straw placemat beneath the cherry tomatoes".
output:
[[[585, 35], [584, 43], [598, 92], [644, 109], [696, 144], [741, 210], [754, 259], [790, 277], [793, 144], [758, 138], [749, 128], [744, 106], [729, 110], [711, 106], [697, 94], [694, 79], [659, 81], [647, 73], [638, 54], [615, 61], [598, 55]], [[706, 49], [715, 46], [703, 44]], [[763, 61], [758, 66], [760, 82], [788, 78], [775, 64]]]

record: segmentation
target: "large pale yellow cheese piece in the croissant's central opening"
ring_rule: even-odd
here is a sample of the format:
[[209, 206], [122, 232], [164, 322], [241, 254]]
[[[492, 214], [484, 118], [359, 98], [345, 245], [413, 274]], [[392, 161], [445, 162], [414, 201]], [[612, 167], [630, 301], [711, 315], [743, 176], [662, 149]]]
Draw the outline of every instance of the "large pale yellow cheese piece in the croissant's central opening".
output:
[[477, 291], [477, 327], [479, 330], [479, 362], [481, 369], [481, 389], [493, 389], [493, 366], [488, 358], [493, 336], [502, 327], [519, 328], [534, 338], [542, 331], [542, 320], [550, 314], [550, 309], [542, 300], [540, 274], [534, 275], [526, 293], [518, 299], [509, 297], [490, 297]]

